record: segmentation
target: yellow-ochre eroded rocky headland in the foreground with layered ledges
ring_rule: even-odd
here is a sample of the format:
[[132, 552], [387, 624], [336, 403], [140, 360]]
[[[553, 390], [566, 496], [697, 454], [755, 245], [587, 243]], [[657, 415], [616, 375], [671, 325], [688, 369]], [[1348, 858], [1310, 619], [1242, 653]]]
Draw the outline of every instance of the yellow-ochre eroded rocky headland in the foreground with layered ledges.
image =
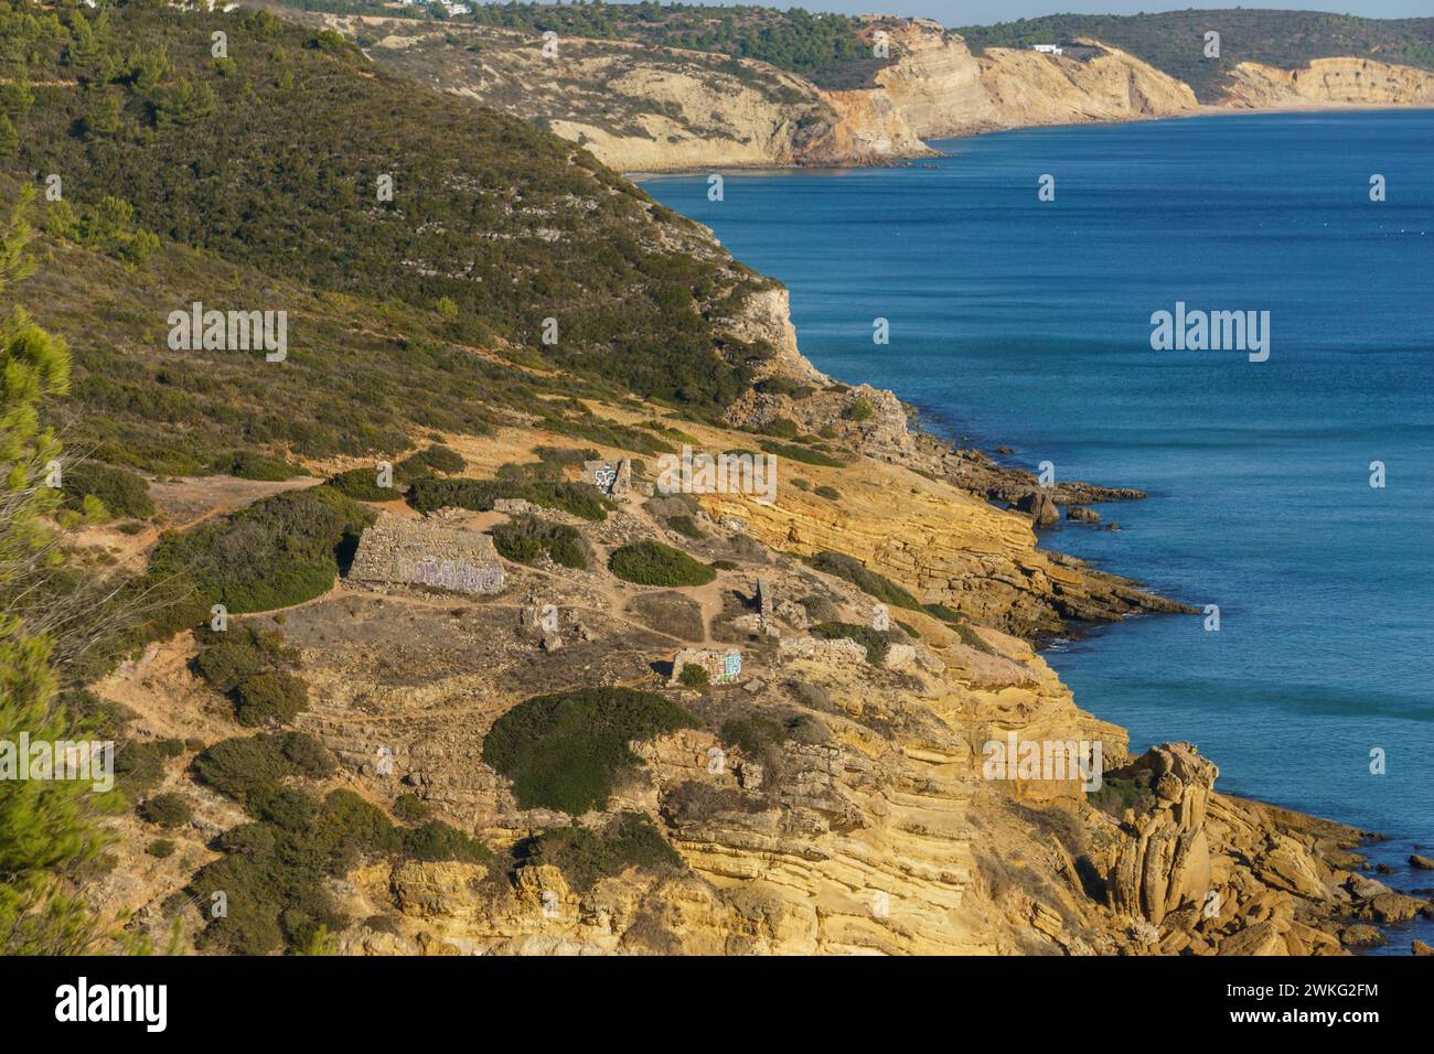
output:
[[[763, 423], [790, 416], [802, 435], [825, 429], [839, 465], [780, 459], [770, 503], [674, 498], [655, 492], [655, 465], [599, 443], [632, 469], [599, 522], [541, 500], [429, 516], [475, 535], [528, 516], [569, 528], [591, 552], [585, 566], [503, 559], [502, 589], [482, 597], [348, 575], [244, 619], [295, 650], [308, 693], [295, 724], [337, 760], [310, 790], [396, 816], [399, 799], [416, 800], [496, 853], [354, 862], [327, 886], [344, 919], [338, 951], [1339, 954], [1369, 939], [1365, 922], [1431, 911], [1361, 873], [1359, 832], [1216, 793], [1215, 764], [1190, 744], [1130, 757], [1121, 728], [1076, 706], [1027, 637], [1071, 617], [1177, 605], [1041, 551], [1031, 515], [989, 500], [1030, 483], [1024, 473], [921, 436], [889, 393], [827, 381], [800, 359], [776, 288], [721, 324], [779, 350], [766, 391], [726, 423], [631, 400], [589, 410], [698, 450], [750, 449]], [[873, 412], [843, 413], [856, 400]], [[442, 439], [479, 478], [568, 442], [536, 422]], [[184, 508], [191, 490], [169, 480], [158, 498]], [[264, 493], [250, 485], [238, 500]], [[400, 533], [419, 521], [400, 500], [370, 506]], [[680, 549], [713, 581], [615, 576], [609, 556], [640, 542]], [[892, 584], [915, 602], [893, 599]], [[863, 638], [883, 614], [873, 589], [892, 601], [879, 647]], [[143, 825], [122, 819], [135, 830], [106, 879], [108, 902], [135, 911], [156, 942], [176, 919], [185, 934], [206, 921], [179, 860], [261, 852], [242, 835], [254, 825], [192, 763], [234, 734], [232, 703], [196, 675], [202, 647], [182, 632], [95, 685], [129, 710], [133, 734], [184, 744], [156, 787], [195, 802], [194, 823], [172, 833], [178, 852], [146, 856]], [[684, 655], [728, 652], [741, 657], [730, 683], [673, 675]], [[568, 815], [523, 803], [483, 759], [505, 714], [575, 685], [661, 693], [697, 721], [634, 740], [611, 796]], [[1067, 766], [1091, 744], [1098, 757], [1086, 771], [1048, 759], [992, 770], [988, 744], [1010, 741], [1067, 751]], [[634, 823], [675, 856], [608, 866], [602, 846]], [[576, 832], [566, 852], [535, 850], [554, 832]], [[575, 855], [581, 839], [599, 849]]]

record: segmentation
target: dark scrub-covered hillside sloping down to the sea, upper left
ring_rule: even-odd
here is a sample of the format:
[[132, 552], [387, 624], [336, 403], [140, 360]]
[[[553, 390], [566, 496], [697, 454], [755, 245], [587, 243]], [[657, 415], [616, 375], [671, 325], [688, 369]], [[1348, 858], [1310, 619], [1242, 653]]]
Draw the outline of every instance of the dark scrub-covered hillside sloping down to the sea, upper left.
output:
[[[585, 151], [416, 92], [336, 33], [152, 0], [6, 0], [0, 54], [0, 175], [62, 188], [47, 231], [113, 261], [75, 261], [113, 300], [82, 295], [86, 278], [54, 304], [77, 403], [116, 419], [109, 437], [158, 423], [311, 456], [391, 450], [397, 417], [467, 427], [531, 404], [502, 360], [710, 413], [764, 354], [716, 334], [710, 318], [760, 280], [700, 228]], [[290, 311], [288, 360], [264, 373], [175, 353], [166, 318], [192, 301]], [[315, 420], [313, 396], [336, 390], [348, 397], [324, 402], [353, 416]]]

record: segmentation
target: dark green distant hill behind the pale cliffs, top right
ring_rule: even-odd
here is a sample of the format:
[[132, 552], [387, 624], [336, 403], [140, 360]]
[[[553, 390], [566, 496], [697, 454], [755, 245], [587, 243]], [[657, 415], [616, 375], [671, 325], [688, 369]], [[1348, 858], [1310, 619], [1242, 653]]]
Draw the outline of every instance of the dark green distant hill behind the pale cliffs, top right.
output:
[[[1220, 34], [1220, 57], [1205, 57], [1205, 34]], [[1311, 59], [1369, 57], [1434, 69], [1434, 19], [1357, 19], [1324, 11], [1184, 10], [1160, 14], [1050, 14], [955, 30], [975, 53], [988, 47], [1096, 39], [1186, 82], [1219, 102], [1238, 63], [1301, 69]]]

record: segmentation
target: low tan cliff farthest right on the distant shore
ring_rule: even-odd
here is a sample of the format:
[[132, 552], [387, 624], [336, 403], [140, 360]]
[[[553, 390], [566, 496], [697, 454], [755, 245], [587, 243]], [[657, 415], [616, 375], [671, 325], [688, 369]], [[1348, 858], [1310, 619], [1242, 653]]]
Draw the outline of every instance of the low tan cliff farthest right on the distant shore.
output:
[[1229, 106], [1434, 105], [1434, 73], [1369, 59], [1315, 59], [1298, 70], [1242, 62], [1233, 76]]

